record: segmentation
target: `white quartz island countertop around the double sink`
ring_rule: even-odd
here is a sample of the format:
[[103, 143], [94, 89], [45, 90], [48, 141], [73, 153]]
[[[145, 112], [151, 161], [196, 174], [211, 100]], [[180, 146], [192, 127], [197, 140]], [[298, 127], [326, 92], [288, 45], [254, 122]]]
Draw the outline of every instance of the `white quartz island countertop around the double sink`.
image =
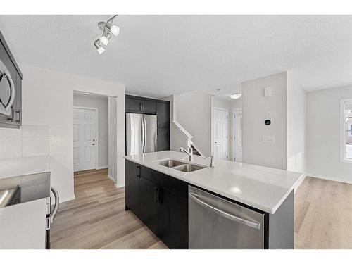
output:
[[[215, 160], [215, 168], [208, 167], [194, 172], [181, 172], [157, 164], [158, 161], [169, 158], [188, 162], [187, 154], [175, 151], [125, 156], [125, 159], [134, 163], [272, 214], [303, 177], [297, 172], [234, 161]], [[192, 163], [208, 166], [210, 161], [194, 156]]]

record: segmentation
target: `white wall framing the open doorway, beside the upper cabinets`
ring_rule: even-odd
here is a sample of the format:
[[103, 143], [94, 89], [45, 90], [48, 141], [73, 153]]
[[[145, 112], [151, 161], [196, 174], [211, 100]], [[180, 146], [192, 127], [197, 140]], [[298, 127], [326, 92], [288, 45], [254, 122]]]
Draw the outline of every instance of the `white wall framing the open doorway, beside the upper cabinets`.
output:
[[[51, 184], [61, 201], [74, 199], [73, 91], [116, 96], [118, 186], [125, 185], [125, 86], [20, 64], [23, 72], [23, 125], [48, 125]], [[58, 139], [58, 143], [54, 142]]]

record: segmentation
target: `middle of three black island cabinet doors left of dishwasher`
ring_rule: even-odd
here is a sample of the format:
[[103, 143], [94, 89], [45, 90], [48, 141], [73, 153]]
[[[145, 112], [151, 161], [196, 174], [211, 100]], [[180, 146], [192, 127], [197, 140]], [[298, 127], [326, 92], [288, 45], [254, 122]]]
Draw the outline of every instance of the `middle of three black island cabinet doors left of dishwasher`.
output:
[[140, 177], [139, 179], [139, 219], [156, 234], [156, 184]]

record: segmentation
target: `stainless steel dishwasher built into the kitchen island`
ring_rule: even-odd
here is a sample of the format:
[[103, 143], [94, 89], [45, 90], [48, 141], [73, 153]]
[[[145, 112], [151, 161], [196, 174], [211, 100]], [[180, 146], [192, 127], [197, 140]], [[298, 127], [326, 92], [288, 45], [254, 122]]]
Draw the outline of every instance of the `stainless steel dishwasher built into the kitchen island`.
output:
[[189, 249], [264, 249], [264, 214], [189, 186]]

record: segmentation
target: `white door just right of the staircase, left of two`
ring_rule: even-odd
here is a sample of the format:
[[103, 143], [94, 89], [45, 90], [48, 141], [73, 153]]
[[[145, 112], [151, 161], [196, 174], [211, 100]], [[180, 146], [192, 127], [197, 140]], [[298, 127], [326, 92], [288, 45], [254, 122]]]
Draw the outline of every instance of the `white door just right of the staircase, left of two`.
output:
[[213, 156], [218, 159], [227, 159], [228, 140], [227, 109], [214, 108], [213, 111]]

